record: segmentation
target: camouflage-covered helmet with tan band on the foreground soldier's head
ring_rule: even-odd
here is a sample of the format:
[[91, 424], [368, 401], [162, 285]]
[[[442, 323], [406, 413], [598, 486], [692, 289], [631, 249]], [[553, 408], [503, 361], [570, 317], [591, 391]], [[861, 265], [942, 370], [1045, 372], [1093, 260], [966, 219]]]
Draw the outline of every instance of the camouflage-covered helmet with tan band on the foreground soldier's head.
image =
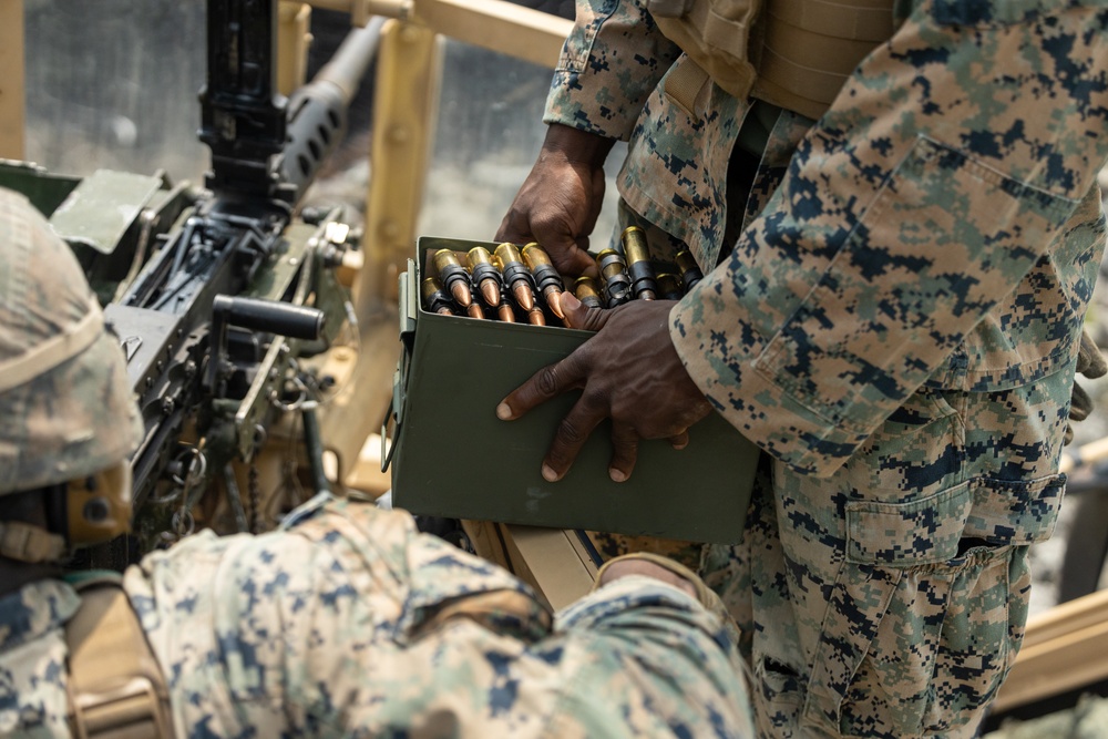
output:
[[119, 341], [69, 246], [0, 188], [0, 495], [119, 464], [142, 421]]

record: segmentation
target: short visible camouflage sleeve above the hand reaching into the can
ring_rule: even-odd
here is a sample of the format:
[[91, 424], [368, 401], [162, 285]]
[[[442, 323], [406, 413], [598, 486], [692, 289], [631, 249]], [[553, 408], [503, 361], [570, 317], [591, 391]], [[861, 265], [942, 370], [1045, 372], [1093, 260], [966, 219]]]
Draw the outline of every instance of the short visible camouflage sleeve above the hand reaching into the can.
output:
[[679, 53], [640, 0], [577, 0], [543, 121], [626, 141]]

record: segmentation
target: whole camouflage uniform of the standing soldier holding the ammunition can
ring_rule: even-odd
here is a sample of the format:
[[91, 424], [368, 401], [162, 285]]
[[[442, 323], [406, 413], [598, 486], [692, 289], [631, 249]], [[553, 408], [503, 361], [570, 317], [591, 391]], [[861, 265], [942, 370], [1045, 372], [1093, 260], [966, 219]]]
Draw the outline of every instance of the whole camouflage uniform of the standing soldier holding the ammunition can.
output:
[[[745, 228], [671, 336], [769, 454], [702, 573], [762, 736], [972, 736], [1015, 657], [1104, 244], [1106, 25], [1104, 2], [921, 0], [819, 122], [755, 126]], [[639, 2], [579, 2], [546, 120], [630, 136], [624, 199], [711, 268], [769, 107], [677, 107], [677, 52]]]

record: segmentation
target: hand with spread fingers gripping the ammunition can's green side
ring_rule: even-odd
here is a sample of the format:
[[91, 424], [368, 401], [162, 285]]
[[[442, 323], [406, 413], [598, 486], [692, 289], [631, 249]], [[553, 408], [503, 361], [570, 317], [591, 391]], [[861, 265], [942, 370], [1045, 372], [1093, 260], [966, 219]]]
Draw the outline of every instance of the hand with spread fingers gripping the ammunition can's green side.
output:
[[630, 476], [640, 439], [669, 439], [676, 449], [688, 444], [688, 428], [711, 407], [669, 339], [673, 306], [673, 300], [633, 300], [602, 310], [564, 294], [562, 307], [571, 326], [597, 331], [596, 336], [538, 370], [496, 408], [496, 415], [510, 421], [566, 390], [582, 390], [543, 460], [544, 479], [554, 482], [565, 476], [605, 418], [612, 419], [608, 475], [615, 482]]

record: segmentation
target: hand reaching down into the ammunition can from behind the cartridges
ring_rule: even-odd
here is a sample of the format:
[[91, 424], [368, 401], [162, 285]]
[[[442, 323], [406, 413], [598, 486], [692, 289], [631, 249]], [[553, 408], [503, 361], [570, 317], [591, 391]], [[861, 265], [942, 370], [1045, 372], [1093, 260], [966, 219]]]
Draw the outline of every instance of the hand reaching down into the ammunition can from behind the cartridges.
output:
[[604, 201], [604, 160], [615, 142], [552, 124], [495, 239], [538, 244], [563, 275], [594, 274], [588, 235]]

